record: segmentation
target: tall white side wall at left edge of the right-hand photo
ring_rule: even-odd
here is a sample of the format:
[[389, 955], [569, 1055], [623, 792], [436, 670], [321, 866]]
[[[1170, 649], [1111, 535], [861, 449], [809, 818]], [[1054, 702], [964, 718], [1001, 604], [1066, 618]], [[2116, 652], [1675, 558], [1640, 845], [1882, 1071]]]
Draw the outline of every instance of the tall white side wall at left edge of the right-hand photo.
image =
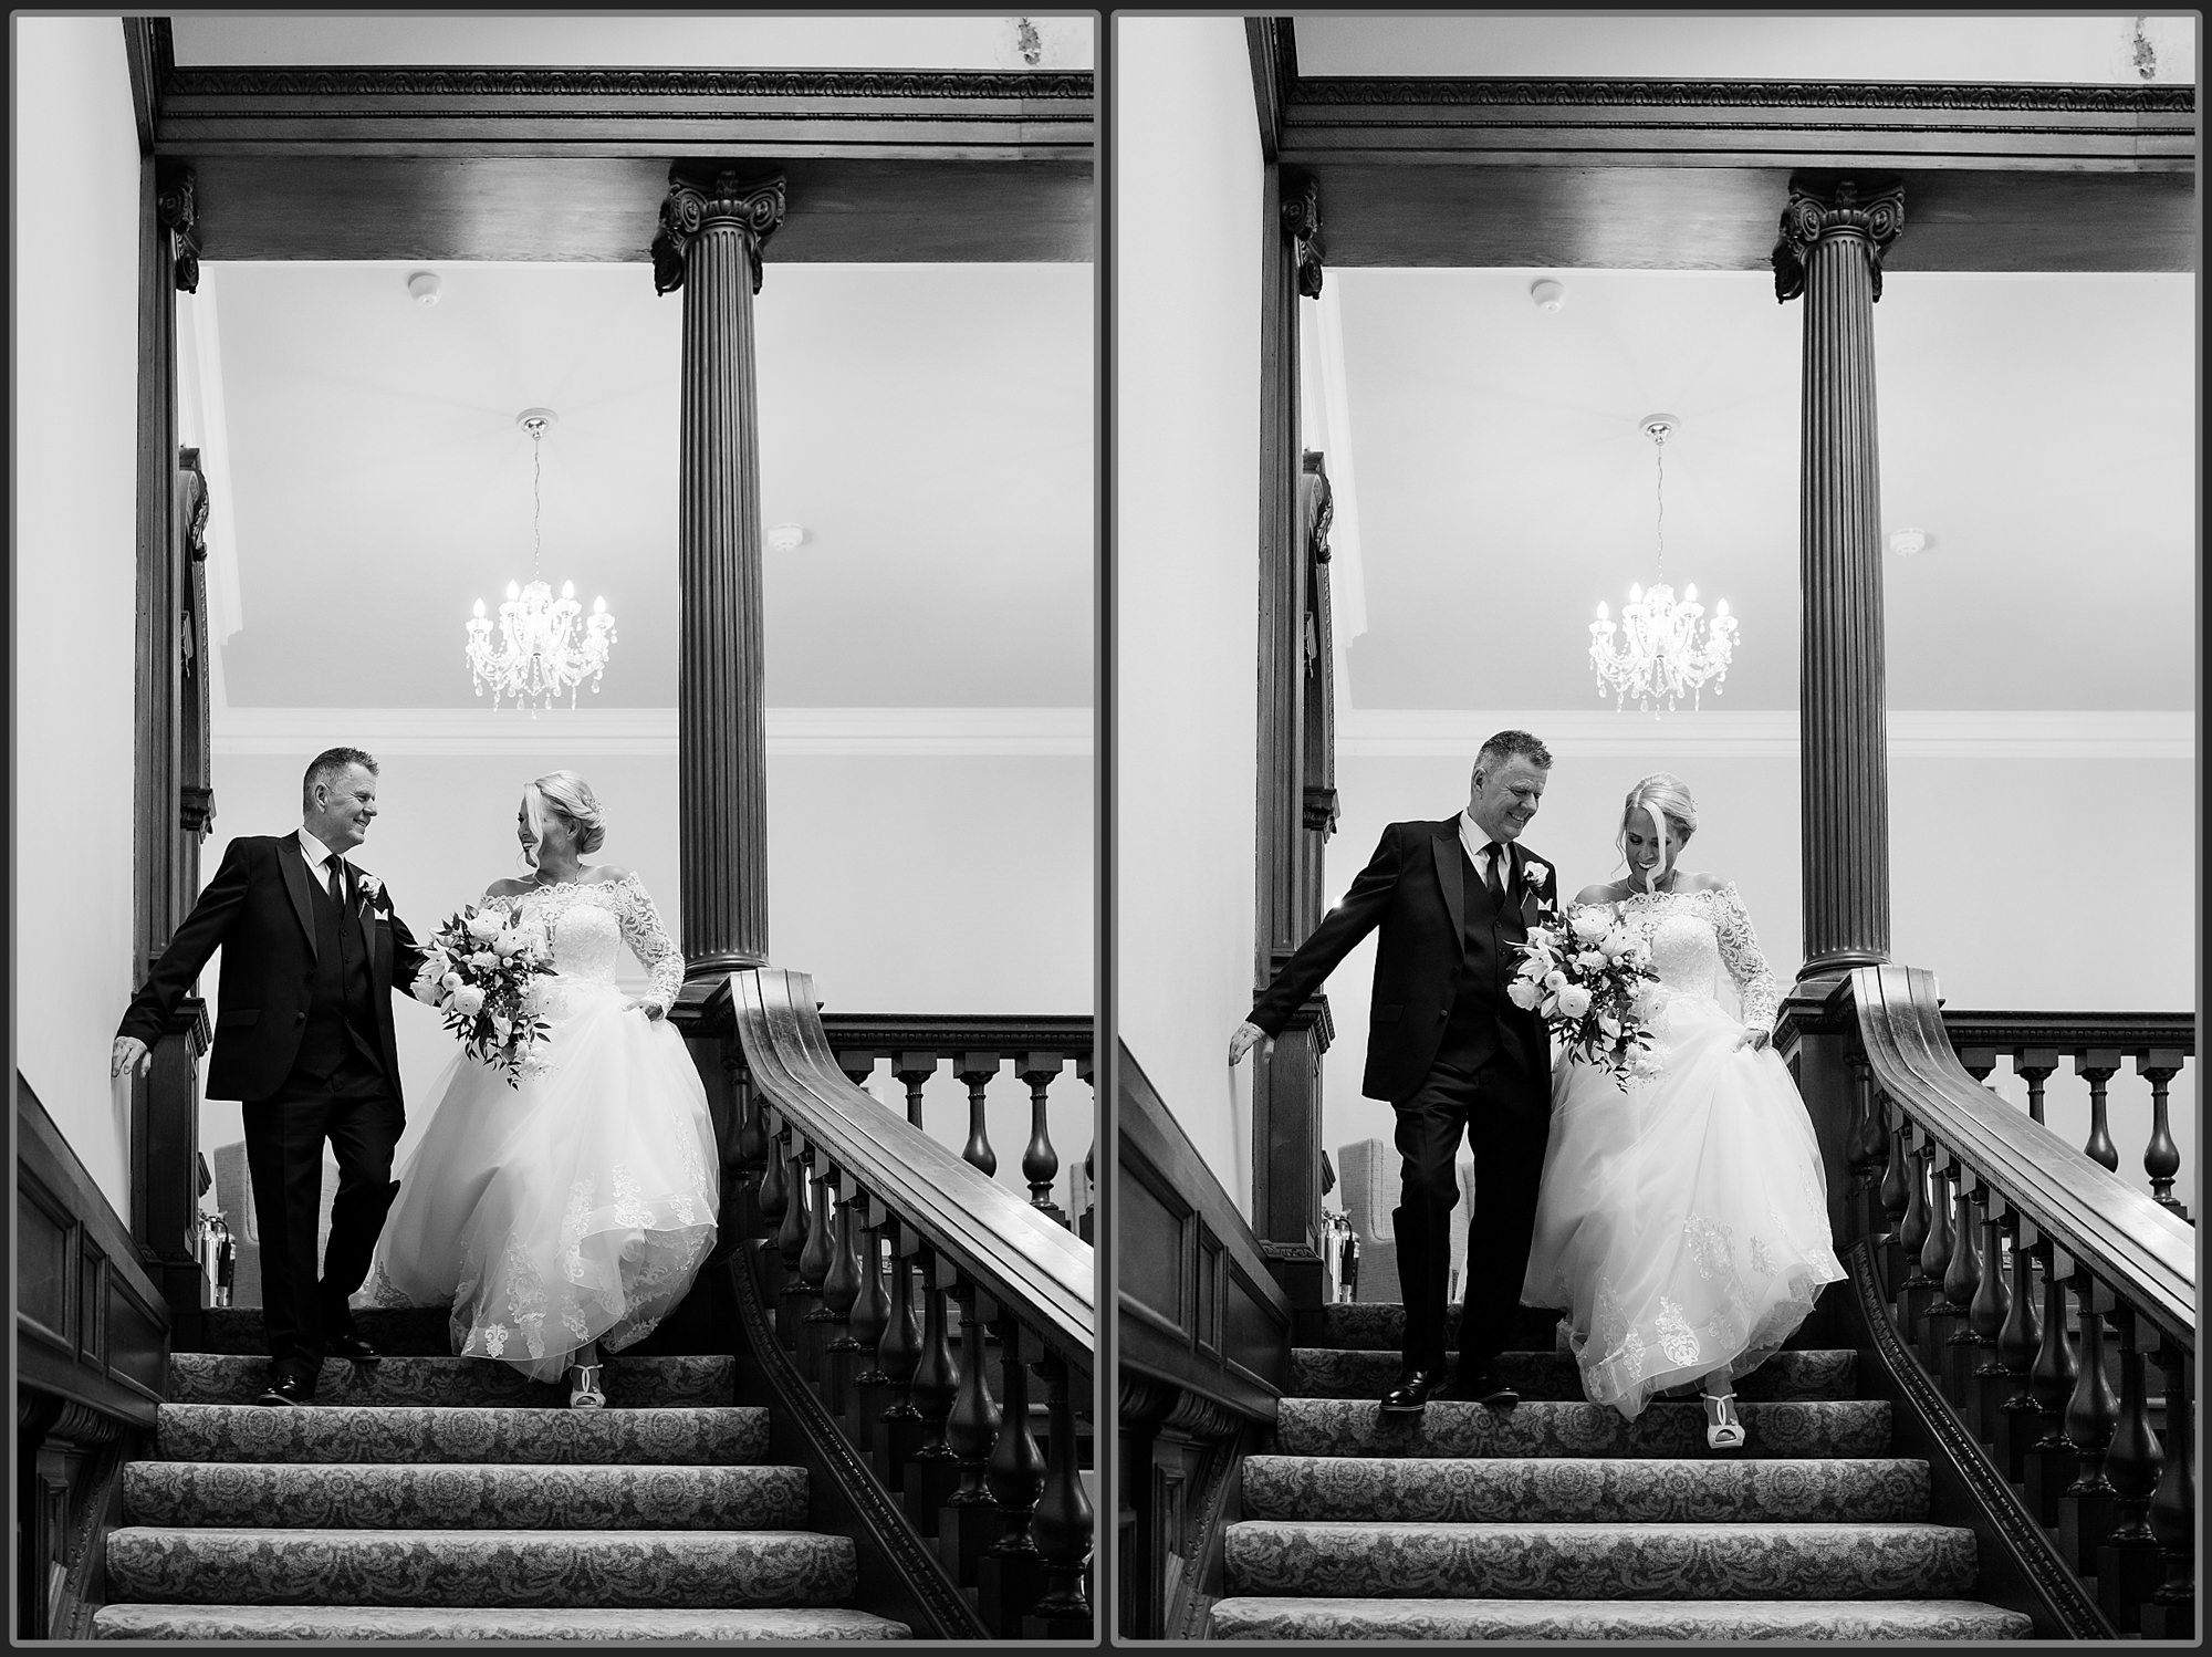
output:
[[1119, 1038], [1248, 1201], [1261, 155], [1239, 18], [1115, 18]]

